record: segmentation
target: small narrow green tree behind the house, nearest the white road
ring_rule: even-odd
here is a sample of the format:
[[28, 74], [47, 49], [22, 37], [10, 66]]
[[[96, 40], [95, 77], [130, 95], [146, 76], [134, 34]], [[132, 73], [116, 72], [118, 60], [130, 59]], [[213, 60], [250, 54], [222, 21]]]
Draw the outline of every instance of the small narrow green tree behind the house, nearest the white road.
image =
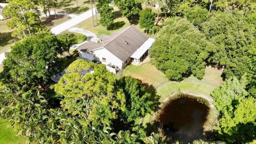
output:
[[107, 27], [107, 30], [114, 23], [115, 15], [113, 10], [113, 7], [109, 6], [109, 4], [104, 4], [100, 10], [100, 23], [102, 26]]

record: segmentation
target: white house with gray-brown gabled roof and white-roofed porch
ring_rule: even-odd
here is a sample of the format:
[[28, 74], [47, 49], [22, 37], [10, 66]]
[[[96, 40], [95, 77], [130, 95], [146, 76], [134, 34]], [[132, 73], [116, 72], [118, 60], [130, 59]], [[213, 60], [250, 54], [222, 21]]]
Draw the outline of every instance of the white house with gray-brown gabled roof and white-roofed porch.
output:
[[[98, 37], [98, 43], [85, 43], [77, 49], [79, 57], [96, 59], [109, 69], [121, 70], [130, 62], [138, 65], [148, 54], [155, 39], [149, 38], [133, 26]], [[111, 70], [114, 72], [114, 70]]]

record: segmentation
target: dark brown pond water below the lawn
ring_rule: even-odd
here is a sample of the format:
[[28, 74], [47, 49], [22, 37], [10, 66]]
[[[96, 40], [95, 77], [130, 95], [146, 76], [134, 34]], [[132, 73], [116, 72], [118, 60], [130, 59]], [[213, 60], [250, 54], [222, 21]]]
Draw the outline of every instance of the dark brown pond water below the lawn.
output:
[[204, 139], [203, 125], [209, 107], [195, 98], [182, 97], [165, 103], [158, 121], [163, 124], [163, 131], [173, 141], [183, 143]]

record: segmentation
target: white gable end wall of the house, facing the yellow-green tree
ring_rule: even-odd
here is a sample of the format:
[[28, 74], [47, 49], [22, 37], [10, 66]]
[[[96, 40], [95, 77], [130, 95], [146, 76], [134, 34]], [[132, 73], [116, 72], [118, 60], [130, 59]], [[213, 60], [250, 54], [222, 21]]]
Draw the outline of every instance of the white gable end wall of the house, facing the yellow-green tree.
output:
[[[111, 52], [109, 52], [105, 48], [95, 50], [95, 51], [93, 51], [93, 54], [95, 55], [95, 57], [99, 58], [99, 60], [104, 65], [109, 65], [110, 64], [111, 66], [114, 65], [114, 66], [118, 66], [118, 68], [121, 68], [121, 69], [123, 68], [123, 61], [118, 59], [114, 54], [112, 54]], [[103, 62], [102, 58], [106, 58], [106, 62]]]

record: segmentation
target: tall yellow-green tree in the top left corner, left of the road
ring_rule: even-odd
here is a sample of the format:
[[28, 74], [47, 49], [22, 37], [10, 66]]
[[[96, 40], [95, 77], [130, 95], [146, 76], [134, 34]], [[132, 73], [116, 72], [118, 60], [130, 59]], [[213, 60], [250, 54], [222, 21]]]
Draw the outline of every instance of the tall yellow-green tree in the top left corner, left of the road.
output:
[[4, 7], [5, 17], [10, 17], [7, 26], [14, 28], [12, 36], [28, 37], [35, 35], [41, 29], [39, 11], [33, 2], [27, 0], [13, 0]]

